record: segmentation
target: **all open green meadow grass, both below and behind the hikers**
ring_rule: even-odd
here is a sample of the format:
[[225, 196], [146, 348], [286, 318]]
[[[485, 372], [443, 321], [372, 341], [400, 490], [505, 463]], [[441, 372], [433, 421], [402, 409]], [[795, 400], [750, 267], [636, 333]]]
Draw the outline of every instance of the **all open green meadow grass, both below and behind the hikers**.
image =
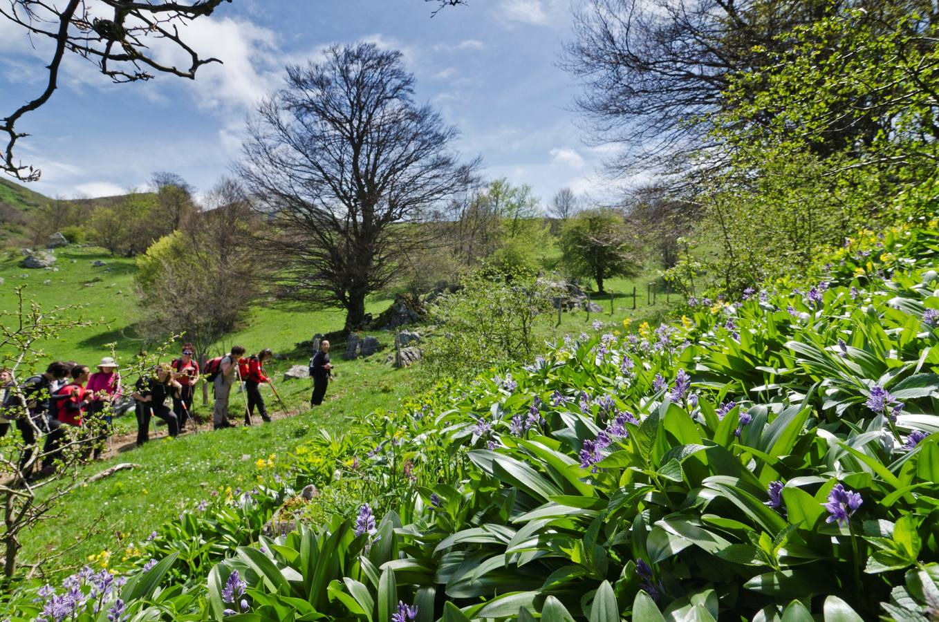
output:
[[[113, 342], [118, 360], [130, 361], [147, 346], [134, 329], [139, 321], [138, 297], [133, 283], [134, 261], [112, 258], [96, 248], [68, 247], [55, 250], [54, 254], [58, 258], [57, 271], [23, 268], [19, 265], [22, 256], [18, 252], [11, 252], [0, 261], [0, 277], [4, 279], [0, 285], [0, 309], [13, 310], [17, 302], [15, 290], [20, 286], [24, 288], [25, 299], [35, 300], [43, 307], [79, 306], [81, 311], [76, 313], [99, 324], [70, 329], [59, 339], [42, 343], [49, 360], [76, 360], [94, 366], [100, 357], [110, 354], [108, 344]], [[95, 261], [105, 265], [94, 266]], [[564, 334], [593, 332], [595, 320], [612, 330], [622, 326], [627, 317], [636, 321], [654, 319], [669, 310], [669, 302], [677, 300], [675, 295], [660, 295], [656, 296], [654, 305], [647, 301], [646, 284], [655, 279], [654, 270], [634, 279], [611, 279], [607, 289], [613, 293], [612, 313], [609, 295], [592, 295], [603, 308], [602, 312], [565, 312], [560, 326], [556, 326], [557, 316], [553, 316], [540, 328], [539, 337], [556, 341]], [[635, 310], [631, 296], [634, 286], [638, 293]], [[377, 314], [390, 302], [390, 297], [375, 296], [369, 302], [368, 311]], [[355, 361], [344, 361], [339, 356], [341, 350], [334, 351], [336, 380], [331, 384], [327, 401], [313, 411], [308, 403], [309, 381], [282, 381], [283, 373], [291, 365], [306, 365], [312, 355], [298, 349], [296, 344], [309, 340], [316, 333], [340, 329], [343, 320], [341, 310], [303, 311], [295, 304], [271, 303], [250, 311], [243, 326], [217, 347], [221, 350], [240, 343], [249, 352], [271, 348], [280, 357], [268, 365], [269, 375], [275, 380], [275, 387], [287, 408], [297, 413], [296, 416], [252, 428], [187, 433], [176, 440], [157, 440], [139, 449], [132, 444], [118, 448], [117, 455], [110, 461], [87, 465], [86, 473], [90, 475], [118, 462], [138, 463], [140, 468], [119, 472], [72, 494], [59, 506], [56, 517], [25, 536], [23, 561], [28, 563], [61, 551], [83, 536], [87, 539], [64, 554], [56, 565], [74, 567], [83, 563], [89, 554], [102, 550], [115, 553], [122, 542], [146, 538], [159, 523], [192, 508], [213, 489], [252, 486], [257, 474], [254, 463], [258, 458], [274, 454], [276, 460], [283, 460], [319, 429], [341, 432], [357, 418], [366, 417], [377, 409], [393, 410], [403, 400], [414, 397], [419, 390], [418, 369], [394, 370], [385, 363], [387, 349], [369, 359]], [[393, 343], [390, 332], [370, 334], [376, 335], [386, 347]], [[270, 389], [262, 390], [269, 409], [279, 410]], [[240, 421], [239, 413], [243, 408], [243, 396], [233, 393], [233, 420]], [[193, 410], [199, 417], [210, 417], [210, 404], [203, 404], [200, 391], [196, 393]], [[255, 421], [257, 419], [255, 416]], [[131, 413], [117, 417], [115, 426], [117, 432], [131, 432], [136, 421]]]

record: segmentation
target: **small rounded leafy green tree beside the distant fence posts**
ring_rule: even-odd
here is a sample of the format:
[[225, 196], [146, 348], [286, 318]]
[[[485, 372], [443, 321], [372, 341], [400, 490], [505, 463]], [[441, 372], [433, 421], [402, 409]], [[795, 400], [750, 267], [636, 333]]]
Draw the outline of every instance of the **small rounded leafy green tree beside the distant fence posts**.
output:
[[603, 294], [603, 281], [639, 273], [631, 242], [619, 212], [608, 208], [582, 211], [561, 231], [564, 268], [574, 277], [593, 279], [597, 292]]

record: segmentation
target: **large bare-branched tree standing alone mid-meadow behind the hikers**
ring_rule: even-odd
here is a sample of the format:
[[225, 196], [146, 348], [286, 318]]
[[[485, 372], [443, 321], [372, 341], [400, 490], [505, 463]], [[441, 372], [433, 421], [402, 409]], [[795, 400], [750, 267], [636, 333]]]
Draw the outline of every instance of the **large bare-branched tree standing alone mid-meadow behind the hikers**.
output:
[[287, 85], [249, 124], [239, 173], [280, 235], [285, 297], [346, 309], [362, 326], [365, 297], [388, 285], [413, 226], [463, 190], [478, 160], [461, 164], [456, 130], [413, 96], [399, 52], [334, 46], [324, 61], [287, 67]]

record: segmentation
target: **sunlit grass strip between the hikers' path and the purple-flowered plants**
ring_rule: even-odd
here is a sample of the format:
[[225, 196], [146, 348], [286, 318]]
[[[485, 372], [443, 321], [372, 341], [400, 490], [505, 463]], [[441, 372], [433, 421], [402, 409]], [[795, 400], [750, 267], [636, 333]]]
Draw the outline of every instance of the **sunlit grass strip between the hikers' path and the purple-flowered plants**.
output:
[[[121, 471], [81, 488], [58, 506], [56, 516], [23, 538], [24, 562], [59, 552], [85, 537], [56, 566], [86, 563], [90, 554], [108, 550], [120, 555], [127, 542], [141, 541], [160, 523], [182, 511], [192, 511], [213, 490], [230, 486], [250, 490], [257, 481], [255, 462], [275, 455], [277, 462], [320, 429], [341, 432], [348, 423], [379, 408], [398, 408], [411, 396], [413, 370], [393, 370], [386, 353], [367, 360], [336, 361], [336, 380], [322, 406], [309, 411], [308, 380], [278, 382], [288, 361], [274, 361], [270, 368], [275, 387], [287, 406], [300, 415], [275, 419], [251, 428], [219, 432], [187, 433], [176, 440], [153, 440], [143, 448], [129, 446], [114, 458], [85, 467], [85, 475], [116, 463], [136, 463], [140, 468]], [[338, 359], [339, 357], [337, 357]], [[278, 410], [269, 388], [262, 388], [270, 410]], [[197, 398], [201, 403], [201, 399]], [[240, 423], [243, 397], [233, 391], [232, 418]], [[203, 412], [207, 410], [202, 409]], [[130, 417], [123, 417], [132, 419]], [[119, 539], [116, 535], [119, 534]], [[122, 542], [124, 544], [122, 544]]]

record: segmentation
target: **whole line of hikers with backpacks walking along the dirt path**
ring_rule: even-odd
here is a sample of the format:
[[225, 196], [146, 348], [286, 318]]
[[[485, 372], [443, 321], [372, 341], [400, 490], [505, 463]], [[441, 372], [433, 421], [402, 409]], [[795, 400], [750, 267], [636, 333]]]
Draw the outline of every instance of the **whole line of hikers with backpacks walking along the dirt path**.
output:
[[[323, 341], [320, 350], [310, 359], [310, 375], [314, 381], [311, 406], [323, 402], [331, 379], [330, 343]], [[269, 384], [265, 364], [273, 357], [269, 348], [256, 355], [245, 356], [245, 348], [235, 345], [223, 357], [208, 360], [200, 370], [194, 358], [192, 343], [185, 343], [180, 356], [169, 363], [159, 363], [140, 377], [130, 391], [137, 418], [137, 446], [149, 438], [152, 417], [166, 423], [172, 437], [185, 431], [192, 419], [192, 398], [195, 386], [205, 379], [213, 387], [212, 425], [215, 430], [235, 425], [229, 416], [232, 388], [242, 385], [245, 394], [244, 425], [252, 424], [255, 411], [265, 422], [270, 421], [260, 386]], [[19, 465], [23, 478], [30, 474], [38, 437], [45, 435], [39, 476], [54, 473], [54, 463], [62, 456], [67, 428], [82, 431], [79, 446], [94, 458], [100, 456], [103, 441], [109, 436], [115, 406], [125, 395], [125, 387], [114, 357], [104, 357], [91, 372], [79, 363], [55, 361], [45, 372], [26, 379], [19, 386], [13, 383], [12, 372], [0, 369], [0, 387], [4, 391], [0, 404], [0, 437], [11, 427], [23, 436], [23, 452]], [[272, 385], [270, 385], [273, 389]], [[275, 390], [275, 389], [274, 389]], [[276, 395], [276, 390], [275, 390]], [[280, 396], [277, 396], [278, 400]], [[169, 401], [172, 405], [167, 405]], [[281, 402], [283, 405], [283, 402]], [[110, 406], [110, 407], [109, 407]], [[95, 425], [85, 425], [94, 421]], [[192, 423], [194, 426], [194, 422]]]

